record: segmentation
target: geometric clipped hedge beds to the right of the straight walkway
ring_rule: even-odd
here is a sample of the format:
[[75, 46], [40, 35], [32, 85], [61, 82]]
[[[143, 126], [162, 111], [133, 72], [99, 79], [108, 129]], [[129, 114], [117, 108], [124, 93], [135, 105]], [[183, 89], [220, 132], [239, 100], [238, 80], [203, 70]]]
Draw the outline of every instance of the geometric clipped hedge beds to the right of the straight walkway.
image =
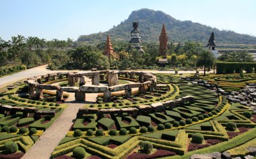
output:
[[[86, 158], [189, 158], [226, 150], [232, 156], [248, 154], [240, 145], [256, 137], [256, 114], [249, 107], [228, 103], [223, 95], [177, 76], [157, 78], [154, 92], [129, 98], [115, 94], [110, 103], [102, 103], [99, 95], [97, 103], [85, 105], [52, 157], [72, 157], [77, 147], [86, 150]], [[188, 96], [192, 103], [180, 102]], [[76, 129], [82, 136], [74, 136]], [[203, 136], [201, 143], [193, 142], [195, 134]], [[139, 151], [143, 142], [152, 144], [150, 154]]]

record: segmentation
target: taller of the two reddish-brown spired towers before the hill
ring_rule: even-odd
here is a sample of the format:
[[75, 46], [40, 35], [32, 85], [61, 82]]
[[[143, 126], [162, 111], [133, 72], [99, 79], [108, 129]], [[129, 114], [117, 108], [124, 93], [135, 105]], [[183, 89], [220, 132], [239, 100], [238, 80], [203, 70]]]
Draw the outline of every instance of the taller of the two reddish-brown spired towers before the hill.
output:
[[162, 32], [159, 36], [159, 54], [160, 56], [166, 56], [166, 50], [168, 48], [167, 46], [168, 37], [165, 30], [165, 25], [162, 25]]

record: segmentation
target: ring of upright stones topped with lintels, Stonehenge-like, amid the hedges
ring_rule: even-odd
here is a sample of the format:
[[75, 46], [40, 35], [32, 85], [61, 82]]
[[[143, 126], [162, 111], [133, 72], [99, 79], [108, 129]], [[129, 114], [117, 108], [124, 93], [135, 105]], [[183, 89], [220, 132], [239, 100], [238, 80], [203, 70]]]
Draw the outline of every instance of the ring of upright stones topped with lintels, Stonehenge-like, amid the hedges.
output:
[[[100, 77], [101, 74], [101, 77]], [[108, 81], [109, 87], [99, 86], [100, 78], [102, 74], [106, 74], [106, 79]], [[118, 76], [125, 74], [127, 78], [134, 78], [135, 75], [139, 77], [140, 83], [131, 83], [125, 85], [118, 85]], [[51, 78], [55, 81], [57, 78], [63, 78], [66, 76], [68, 78], [68, 83], [70, 87], [60, 87], [59, 85], [44, 85], [42, 83], [42, 78], [46, 82], [51, 81]], [[86, 76], [92, 76], [92, 85], [85, 85]], [[104, 77], [104, 76], [103, 76]], [[75, 83], [79, 81], [80, 87], [75, 87]], [[91, 72], [77, 73], [77, 72], [59, 72], [52, 74], [44, 74], [42, 76], [32, 76], [28, 78], [25, 83], [28, 84], [28, 93], [30, 97], [37, 97], [42, 99], [42, 90], [56, 90], [57, 100], [61, 100], [63, 96], [63, 91], [75, 92], [75, 99], [77, 101], [85, 101], [85, 93], [104, 93], [104, 101], [110, 102], [111, 92], [123, 91], [125, 90], [125, 96], [131, 97], [131, 89], [139, 88], [139, 93], [145, 94], [148, 89], [154, 91], [156, 88], [156, 76], [151, 73], [144, 72], [130, 72], [130, 71], [119, 71], [119, 70], [104, 70], [97, 71], [93, 70]], [[34, 92], [36, 91], [36, 95]]]

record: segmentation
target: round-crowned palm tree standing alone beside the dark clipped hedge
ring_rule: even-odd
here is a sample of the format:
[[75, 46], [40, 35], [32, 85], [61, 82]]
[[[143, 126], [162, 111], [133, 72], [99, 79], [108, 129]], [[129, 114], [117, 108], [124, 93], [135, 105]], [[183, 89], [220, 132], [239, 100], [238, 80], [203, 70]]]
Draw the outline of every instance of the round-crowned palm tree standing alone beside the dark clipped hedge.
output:
[[203, 76], [205, 76], [206, 68], [210, 69], [214, 66], [216, 58], [210, 50], [204, 48], [199, 49], [197, 57], [197, 66], [203, 66]]

